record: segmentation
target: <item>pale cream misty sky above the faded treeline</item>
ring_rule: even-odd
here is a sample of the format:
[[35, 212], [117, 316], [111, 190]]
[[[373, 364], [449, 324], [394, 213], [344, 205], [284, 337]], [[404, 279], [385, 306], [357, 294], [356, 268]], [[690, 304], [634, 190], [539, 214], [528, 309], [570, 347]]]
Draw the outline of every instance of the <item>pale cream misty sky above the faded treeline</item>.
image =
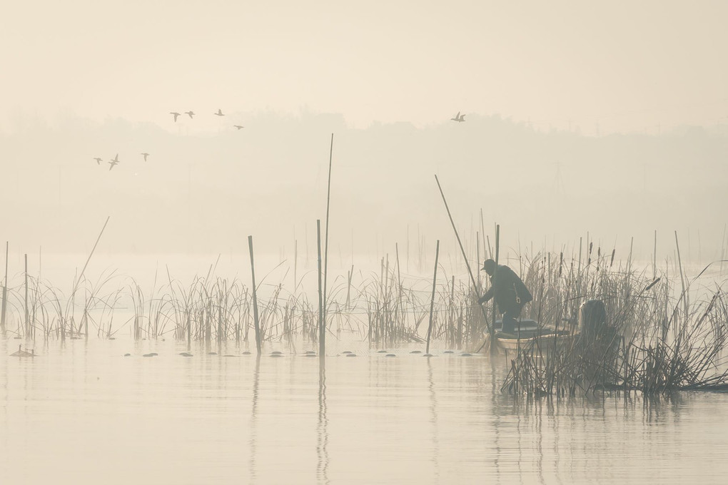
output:
[[304, 107], [350, 127], [728, 124], [727, 18], [725, 1], [4, 2], [0, 127]]

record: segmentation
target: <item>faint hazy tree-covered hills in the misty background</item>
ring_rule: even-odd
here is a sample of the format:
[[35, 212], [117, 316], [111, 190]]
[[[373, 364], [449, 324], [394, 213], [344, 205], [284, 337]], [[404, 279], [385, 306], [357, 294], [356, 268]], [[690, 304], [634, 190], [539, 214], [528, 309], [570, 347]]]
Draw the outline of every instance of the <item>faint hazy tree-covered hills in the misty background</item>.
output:
[[226, 252], [245, 249], [248, 234], [261, 251], [292, 251], [294, 239], [314, 242], [315, 220], [325, 218], [333, 133], [331, 241], [345, 252], [418, 232], [448, 249], [438, 174], [462, 231], [478, 230], [482, 209], [488, 229], [502, 224], [505, 246], [591, 231], [607, 247], [634, 236], [648, 257], [657, 230], [665, 246], [678, 231], [692, 257], [719, 256], [726, 129], [586, 137], [498, 116], [454, 123], [450, 114], [428, 127], [349, 129], [339, 115], [232, 113], [205, 131], [186, 116], [170, 124], [166, 113], [149, 124], [18, 116], [0, 133], [0, 227], [28, 250], [84, 251], [110, 215], [110, 251]]

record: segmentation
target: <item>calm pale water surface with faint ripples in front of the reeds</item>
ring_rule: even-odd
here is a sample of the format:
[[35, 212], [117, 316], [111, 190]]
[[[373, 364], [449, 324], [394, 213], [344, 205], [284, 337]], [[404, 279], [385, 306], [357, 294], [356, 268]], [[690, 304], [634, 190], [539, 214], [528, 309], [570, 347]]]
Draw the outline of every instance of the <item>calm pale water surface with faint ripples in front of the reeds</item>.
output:
[[526, 404], [499, 392], [503, 361], [445, 348], [331, 342], [320, 372], [312, 345], [256, 358], [201, 343], [185, 358], [170, 340], [91, 339], [9, 356], [19, 342], [0, 340], [2, 484], [727, 480], [721, 393]]

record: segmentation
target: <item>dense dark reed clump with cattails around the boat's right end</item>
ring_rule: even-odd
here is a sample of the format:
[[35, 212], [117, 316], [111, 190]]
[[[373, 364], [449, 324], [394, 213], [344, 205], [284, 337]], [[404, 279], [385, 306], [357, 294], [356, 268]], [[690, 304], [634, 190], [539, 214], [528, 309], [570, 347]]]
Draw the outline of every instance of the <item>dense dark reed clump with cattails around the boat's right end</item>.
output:
[[[528, 312], [551, 329], [561, 324], [569, 336], [558, 344], [558, 338], [524, 342], [510, 358], [503, 391], [529, 397], [596, 390], [654, 395], [728, 387], [721, 360], [728, 295], [719, 285], [705, 292], [684, 284], [678, 291], [666, 272], [648, 278], [629, 264], [615, 267], [613, 255], [598, 253], [582, 268], [564, 267], [557, 257], [542, 254], [531, 264], [527, 284], [535, 291]], [[604, 318], [596, 324], [588, 317], [585, 323], [589, 301], [603, 304]]]

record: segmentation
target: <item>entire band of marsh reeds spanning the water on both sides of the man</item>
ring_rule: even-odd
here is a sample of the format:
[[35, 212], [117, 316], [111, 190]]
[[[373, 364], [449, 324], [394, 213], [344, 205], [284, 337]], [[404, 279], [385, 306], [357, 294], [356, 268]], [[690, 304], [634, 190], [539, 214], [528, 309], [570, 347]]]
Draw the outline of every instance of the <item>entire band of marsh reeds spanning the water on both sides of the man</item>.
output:
[[[504, 392], [536, 397], [728, 387], [721, 360], [728, 344], [728, 297], [720, 284], [700, 286], [700, 275], [688, 281], [676, 270], [678, 262], [666, 261], [662, 273], [650, 268], [648, 275], [633, 268], [630, 258], [617, 261], [613, 250], [590, 246], [583, 256], [544, 252], [513, 265], [523, 268], [534, 295], [521, 316], [576, 335], [582, 303], [601, 300], [608, 324], [590, 338], [582, 332], [558, 345], [548, 338], [524, 343], [502, 361]], [[390, 264], [382, 258], [376, 273], [355, 272], [352, 266], [346, 276], [330, 281], [327, 334], [355, 337], [373, 348], [424, 348], [432, 309], [432, 340], [467, 350], [487, 338], [484, 315], [490, 313], [478, 305], [479, 291], [468, 279], [442, 267], [434, 285], [432, 278], [403, 277], [398, 259]], [[680, 278], [677, 284], [668, 270], [673, 280]], [[267, 282], [269, 275], [258, 284], [261, 341], [318, 342], [319, 305], [303, 289], [306, 275], [294, 281], [292, 291], [282, 281]], [[26, 296], [25, 278], [25, 273], [15, 276], [7, 288], [7, 332], [15, 337], [65, 340], [95, 333], [107, 339], [173, 337], [188, 345], [255, 342], [252, 288], [239, 278], [215, 276], [215, 265], [186, 284], [167, 268], [166, 278], [155, 274], [147, 290], [112, 270], [96, 281], [74, 278], [71, 294], [27, 276]]]

